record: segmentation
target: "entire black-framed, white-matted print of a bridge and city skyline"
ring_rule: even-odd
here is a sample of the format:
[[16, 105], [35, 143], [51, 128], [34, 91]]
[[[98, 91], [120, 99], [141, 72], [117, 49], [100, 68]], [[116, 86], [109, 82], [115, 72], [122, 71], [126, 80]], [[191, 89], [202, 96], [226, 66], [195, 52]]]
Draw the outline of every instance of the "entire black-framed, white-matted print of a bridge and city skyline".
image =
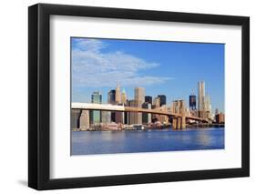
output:
[[28, 8], [28, 185], [250, 174], [250, 19]]

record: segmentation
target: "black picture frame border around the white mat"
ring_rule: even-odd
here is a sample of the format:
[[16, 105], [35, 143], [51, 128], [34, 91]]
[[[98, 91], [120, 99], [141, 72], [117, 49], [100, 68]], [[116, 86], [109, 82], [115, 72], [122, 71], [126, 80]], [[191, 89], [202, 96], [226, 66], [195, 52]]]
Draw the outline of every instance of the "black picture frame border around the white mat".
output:
[[[205, 169], [118, 176], [50, 179], [50, 15], [241, 26], [241, 168]], [[250, 176], [250, 18], [78, 5], [37, 4], [28, 7], [28, 186], [68, 189], [179, 180]]]

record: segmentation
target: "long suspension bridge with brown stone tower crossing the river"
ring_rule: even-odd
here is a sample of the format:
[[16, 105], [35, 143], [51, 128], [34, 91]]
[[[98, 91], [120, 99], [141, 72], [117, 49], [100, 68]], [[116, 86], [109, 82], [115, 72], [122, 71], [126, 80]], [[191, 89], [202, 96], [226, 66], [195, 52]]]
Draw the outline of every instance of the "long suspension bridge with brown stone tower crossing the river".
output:
[[[73, 102], [71, 105], [72, 109], [80, 110], [100, 110], [100, 111], [115, 111], [115, 112], [135, 112], [135, 113], [148, 113], [155, 115], [164, 115], [172, 118], [172, 128], [182, 129], [186, 128], [186, 124], [193, 120], [200, 123], [208, 123], [209, 120], [202, 117], [194, 117], [186, 115], [185, 111], [180, 111], [179, 113], [173, 113], [171, 111], [162, 110], [160, 108], [147, 109], [141, 107], [125, 107], [123, 105], [111, 105], [111, 104], [95, 104], [95, 103], [78, 103]], [[83, 118], [80, 118], [83, 119]]]

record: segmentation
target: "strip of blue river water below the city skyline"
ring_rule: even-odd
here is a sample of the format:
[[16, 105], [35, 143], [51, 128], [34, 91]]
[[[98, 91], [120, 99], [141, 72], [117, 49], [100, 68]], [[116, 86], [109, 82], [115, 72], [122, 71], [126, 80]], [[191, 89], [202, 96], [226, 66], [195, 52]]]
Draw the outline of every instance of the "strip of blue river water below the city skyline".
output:
[[71, 155], [222, 148], [224, 128], [71, 132]]

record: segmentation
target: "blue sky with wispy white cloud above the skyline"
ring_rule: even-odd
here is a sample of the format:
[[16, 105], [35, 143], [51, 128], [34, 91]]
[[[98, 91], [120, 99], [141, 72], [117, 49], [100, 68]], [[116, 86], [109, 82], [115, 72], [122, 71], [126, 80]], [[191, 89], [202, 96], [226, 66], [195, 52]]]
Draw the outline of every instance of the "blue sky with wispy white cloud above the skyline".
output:
[[198, 94], [197, 83], [205, 81], [212, 110], [224, 111], [224, 45], [168, 41], [71, 38], [72, 101], [90, 102], [99, 90], [103, 103], [117, 84], [129, 99], [134, 87], [146, 95], [175, 99]]

